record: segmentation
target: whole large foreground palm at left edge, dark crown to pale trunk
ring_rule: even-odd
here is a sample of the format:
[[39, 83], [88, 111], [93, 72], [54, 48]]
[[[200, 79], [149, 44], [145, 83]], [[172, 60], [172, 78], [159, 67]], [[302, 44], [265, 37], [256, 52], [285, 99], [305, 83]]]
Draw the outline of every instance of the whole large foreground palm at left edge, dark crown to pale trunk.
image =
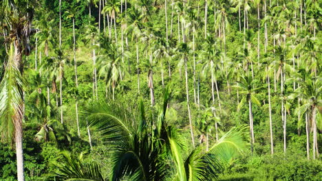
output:
[[[1, 130], [6, 138], [16, 143], [17, 178], [25, 180], [23, 173], [23, 53], [30, 54], [29, 38], [36, 32], [32, 29], [33, 11], [36, 1], [0, 2], [0, 32], [8, 32], [7, 43], [10, 43], [8, 62], [1, 78], [0, 88], [0, 121]], [[8, 129], [9, 128], [9, 129]]]

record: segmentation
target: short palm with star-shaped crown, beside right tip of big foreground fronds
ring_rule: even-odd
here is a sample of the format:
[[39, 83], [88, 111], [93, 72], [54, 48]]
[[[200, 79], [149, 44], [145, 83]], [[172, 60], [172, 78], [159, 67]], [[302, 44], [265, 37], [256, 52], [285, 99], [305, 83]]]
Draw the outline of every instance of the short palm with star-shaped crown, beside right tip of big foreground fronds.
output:
[[254, 137], [254, 121], [253, 121], [253, 106], [252, 104], [257, 104], [258, 106], [261, 106], [259, 103], [259, 100], [256, 97], [256, 91], [261, 89], [255, 88], [255, 85], [253, 83], [253, 78], [250, 77], [250, 75], [244, 75], [240, 77], [240, 81], [237, 82], [237, 85], [235, 88], [238, 88], [240, 90], [239, 93], [244, 95], [244, 97], [241, 99], [237, 106], [237, 110], [241, 109], [241, 106], [244, 104], [248, 104], [248, 112], [249, 112], [249, 128], [250, 128], [250, 150], [253, 154], [254, 151], [254, 143], [255, 143], [255, 137]]

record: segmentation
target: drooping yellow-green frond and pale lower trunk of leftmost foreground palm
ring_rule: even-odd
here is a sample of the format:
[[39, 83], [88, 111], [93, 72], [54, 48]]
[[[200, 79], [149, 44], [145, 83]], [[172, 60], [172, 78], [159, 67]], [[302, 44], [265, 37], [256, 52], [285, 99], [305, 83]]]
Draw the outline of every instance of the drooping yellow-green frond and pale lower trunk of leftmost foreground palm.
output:
[[[13, 43], [12, 43], [13, 44]], [[25, 180], [23, 174], [23, 82], [18, 69], [14, 47], [10, 45], [9, 60], [0, 83], [1, 136], [16, 143], [18, 180]], [[17, 46], [17, 45], [16, 45]], [[16, 60], [15, 60], [16, 58]]]

